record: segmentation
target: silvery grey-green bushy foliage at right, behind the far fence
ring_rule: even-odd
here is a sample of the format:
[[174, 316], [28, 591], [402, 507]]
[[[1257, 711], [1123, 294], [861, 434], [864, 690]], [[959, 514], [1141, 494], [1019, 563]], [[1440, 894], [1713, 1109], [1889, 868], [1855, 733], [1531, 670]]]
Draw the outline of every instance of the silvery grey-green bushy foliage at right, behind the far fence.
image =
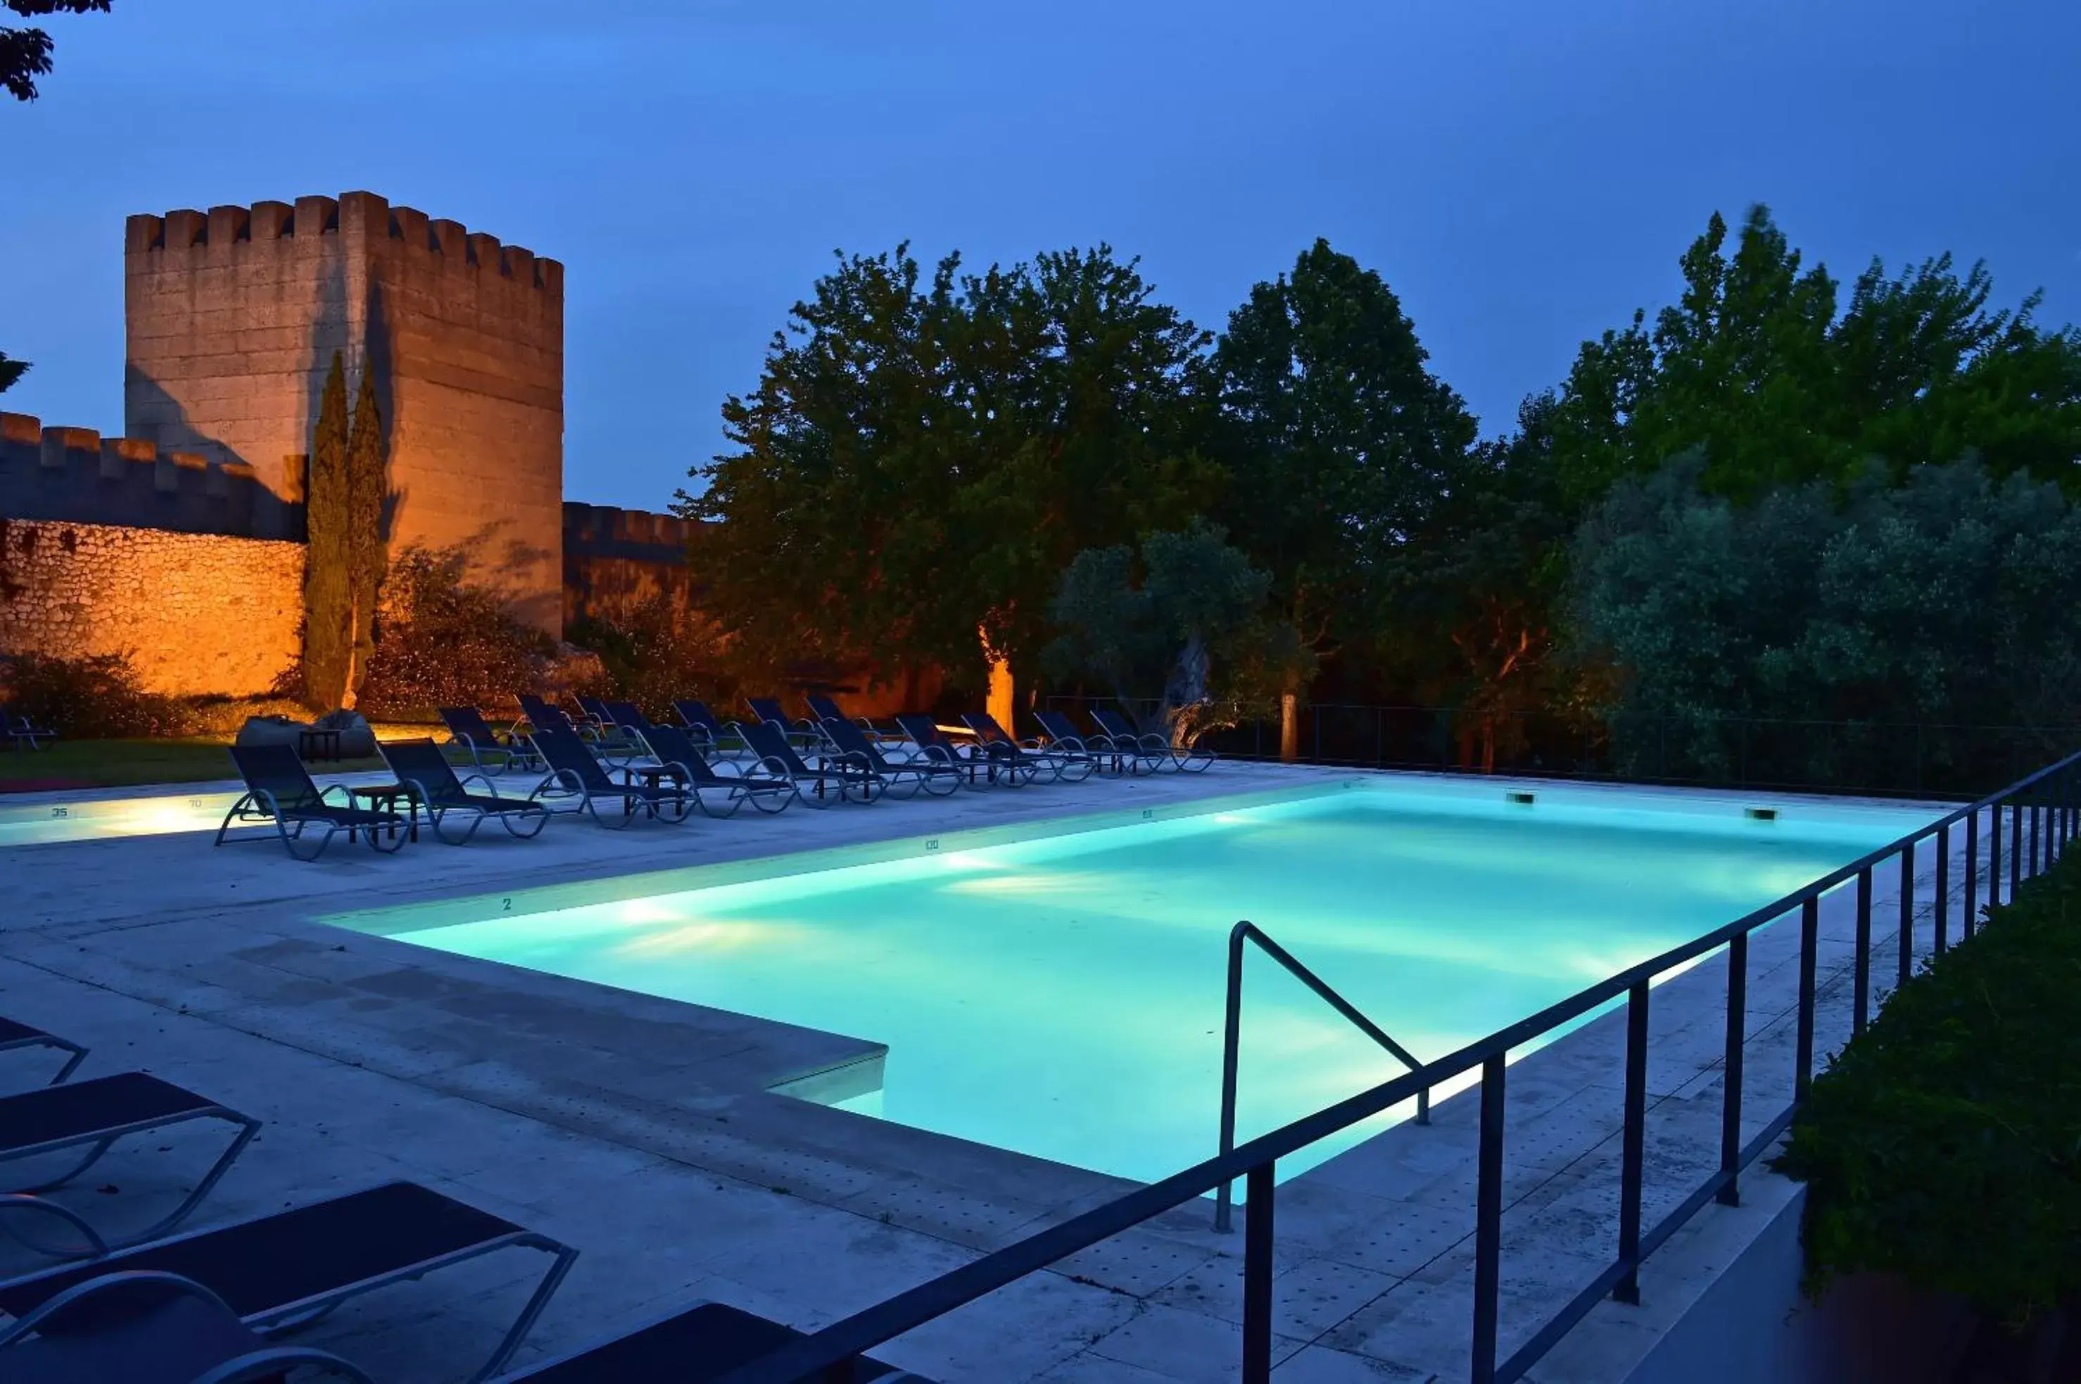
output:
[[[1621, 676], [1621, 749], [1725, 772], [1723, 718], [2071, 724], [2081, 510], [1979, 462], [1883, 468], [1738, 506], [1688, 454], [1625, 481], [1573, 549], [1575, 653]], [[1667, 737], [1667, 739], [1665, 739]]]

